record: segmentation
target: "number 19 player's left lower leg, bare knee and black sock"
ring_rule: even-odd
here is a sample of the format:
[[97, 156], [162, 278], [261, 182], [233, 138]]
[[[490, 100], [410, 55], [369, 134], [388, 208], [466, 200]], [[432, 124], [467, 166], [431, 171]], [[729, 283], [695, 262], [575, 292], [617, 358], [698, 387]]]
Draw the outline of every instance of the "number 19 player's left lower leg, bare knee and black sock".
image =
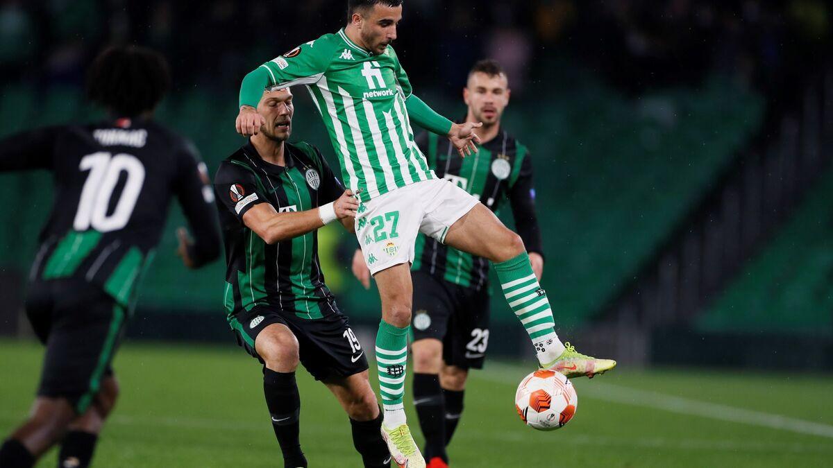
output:
[[257, 355], [263, 360], [263, 395], [272, 417], [272, 429], [281, 446], [284, 466], [307, 466], [301, 450], [301, 396], [295, 381], [300, 361], [298, 340], [289, 327], [273, 323], [255, 340]]

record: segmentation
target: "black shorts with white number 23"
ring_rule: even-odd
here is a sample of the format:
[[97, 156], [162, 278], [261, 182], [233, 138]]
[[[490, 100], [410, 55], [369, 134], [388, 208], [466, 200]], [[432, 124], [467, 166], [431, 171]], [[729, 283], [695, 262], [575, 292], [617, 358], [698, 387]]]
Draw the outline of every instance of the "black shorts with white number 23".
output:
[[442, 359], [463, 369], [483, 368], [489, 346], [489, 291], [457, 286], [425, 271], [413, 271], [414, 341], [442, 341]]

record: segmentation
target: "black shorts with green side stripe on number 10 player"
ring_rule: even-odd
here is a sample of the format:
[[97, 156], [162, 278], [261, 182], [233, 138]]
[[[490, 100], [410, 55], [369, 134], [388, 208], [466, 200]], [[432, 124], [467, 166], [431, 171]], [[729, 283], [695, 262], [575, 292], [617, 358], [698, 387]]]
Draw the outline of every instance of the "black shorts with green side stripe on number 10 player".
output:
[[98, 286], [67, 278], [32, 282], [26, 315], [47, 346], [37, 395], [66, 398], [82, 414], [102, 379], [112, 376], [112, 357], [124, 335], [127, 309]]

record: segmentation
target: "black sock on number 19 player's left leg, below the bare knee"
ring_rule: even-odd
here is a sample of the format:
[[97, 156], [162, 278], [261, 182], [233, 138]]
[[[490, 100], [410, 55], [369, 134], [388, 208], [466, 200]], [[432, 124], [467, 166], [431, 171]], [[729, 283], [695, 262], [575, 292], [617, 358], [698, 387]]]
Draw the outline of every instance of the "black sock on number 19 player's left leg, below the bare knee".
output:
[[301, 451], [299, 434], [301, 426], [301, 396], [295, 382], [295, 372], [263, 370], [263, 394], [272, 416], [272, 429], [281, 445], [284, 466], [307, 466], [307, 458]]

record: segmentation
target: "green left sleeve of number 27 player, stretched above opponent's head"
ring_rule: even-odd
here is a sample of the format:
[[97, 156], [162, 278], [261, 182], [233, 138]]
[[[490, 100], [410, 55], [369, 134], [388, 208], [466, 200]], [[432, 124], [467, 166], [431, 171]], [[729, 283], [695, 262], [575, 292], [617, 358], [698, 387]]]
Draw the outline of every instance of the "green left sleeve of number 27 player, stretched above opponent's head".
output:
[[243, 78], [240, 105], [257, 107], [267, 87], [292, 87], [321, 79], [332, 62], [332, 44], [325, 37], [275, 57]]

